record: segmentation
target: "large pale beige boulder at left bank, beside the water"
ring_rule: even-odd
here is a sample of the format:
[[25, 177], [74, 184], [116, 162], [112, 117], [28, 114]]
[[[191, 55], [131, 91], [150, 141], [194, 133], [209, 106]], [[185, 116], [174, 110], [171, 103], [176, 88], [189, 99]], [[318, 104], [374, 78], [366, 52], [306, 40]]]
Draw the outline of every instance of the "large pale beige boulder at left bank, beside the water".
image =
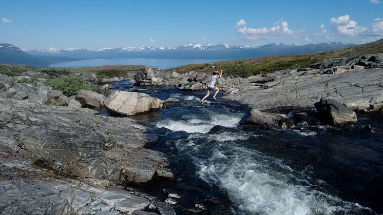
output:
[[109, 94], [105, 107], [113, 114], [135, 115], [161, 108], [162, 101], [145, 93], [118, 90]]

